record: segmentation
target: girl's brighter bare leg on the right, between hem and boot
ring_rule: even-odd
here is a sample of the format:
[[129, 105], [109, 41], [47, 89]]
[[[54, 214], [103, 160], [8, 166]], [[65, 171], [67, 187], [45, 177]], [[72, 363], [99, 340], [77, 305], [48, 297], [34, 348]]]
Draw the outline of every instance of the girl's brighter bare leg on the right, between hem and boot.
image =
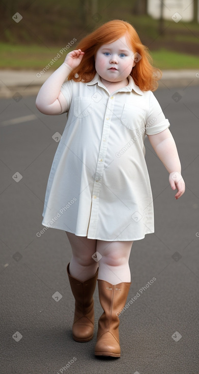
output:
[[96, 251], [102, 256], [99, 260], [98, 279], [113, 285], [131, 281], [128, 261], [132, 244], [133, 241], [97, 241]]

